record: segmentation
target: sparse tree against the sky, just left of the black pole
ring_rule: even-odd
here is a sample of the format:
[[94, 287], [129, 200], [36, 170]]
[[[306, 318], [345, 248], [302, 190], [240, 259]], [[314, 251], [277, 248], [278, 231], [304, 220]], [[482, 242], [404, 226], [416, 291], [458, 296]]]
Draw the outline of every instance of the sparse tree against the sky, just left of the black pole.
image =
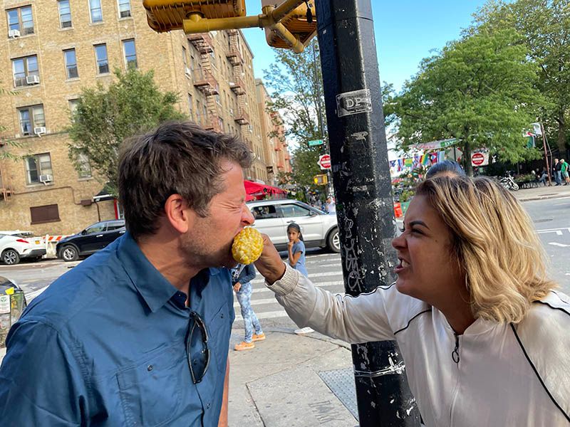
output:
[[[308, 142], [327, 138], [318, 43], [312, 41], [299, 54], [289, 49], [274, 49], [274, 53], [276, 62], [264, 70], [265, 83], [273, 90], [266, 109], [281, 113], [283, 122], [276, 125], [284, 125], [286, 139], [298, 144], [292, 153], [294, 184], [303, 191], [315, 190], [313, 177], [321, 173], [317, 161], [323, 147], [309, 147]], [[274, 120], [279, 119], [274, 116]]]

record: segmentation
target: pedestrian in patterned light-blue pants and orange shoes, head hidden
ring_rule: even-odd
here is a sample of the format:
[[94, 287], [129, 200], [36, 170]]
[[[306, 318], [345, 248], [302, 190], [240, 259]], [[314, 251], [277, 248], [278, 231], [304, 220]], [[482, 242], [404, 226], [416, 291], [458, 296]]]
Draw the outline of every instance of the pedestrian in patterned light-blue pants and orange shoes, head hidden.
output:
[[244, 265], [243, 268], [242, 265], [232, 268], [232, 286], [242, 310], [245, 328], [244, 340], [234, 347], [238, 352], [253, 349], [255, 347], [254, 342], [265, 339], [261, 324], [252, 308], [252, 280], [254, 280], [255, 275], [253, 264]]

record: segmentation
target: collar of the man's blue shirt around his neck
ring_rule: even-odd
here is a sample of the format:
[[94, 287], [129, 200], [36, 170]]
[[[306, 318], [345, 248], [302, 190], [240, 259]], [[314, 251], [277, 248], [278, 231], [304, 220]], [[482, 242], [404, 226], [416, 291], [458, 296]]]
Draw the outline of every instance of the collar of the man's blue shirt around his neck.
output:
[[[160, 309], [178, 292], [177, 288], [150, 263], [128, 231], [120, 238], [117, 257], [152, 312]], [[201, 293], [208, 283], [209, 276], [217, 273], [219, 273], [217, 268], [200, 271], [192, 279], [191, 287], [197, 286], [198, 292]]]

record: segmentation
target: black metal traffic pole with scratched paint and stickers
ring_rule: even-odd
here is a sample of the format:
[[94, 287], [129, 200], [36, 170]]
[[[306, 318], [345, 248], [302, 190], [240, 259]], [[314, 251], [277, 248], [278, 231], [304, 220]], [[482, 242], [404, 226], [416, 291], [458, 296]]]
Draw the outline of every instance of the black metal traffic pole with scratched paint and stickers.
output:
[[[316, 0], [345, 290], [393, 282], [395, 222], [371, 0]], [[360, 425], [419, 426], [393, 341], [353, 344]]]

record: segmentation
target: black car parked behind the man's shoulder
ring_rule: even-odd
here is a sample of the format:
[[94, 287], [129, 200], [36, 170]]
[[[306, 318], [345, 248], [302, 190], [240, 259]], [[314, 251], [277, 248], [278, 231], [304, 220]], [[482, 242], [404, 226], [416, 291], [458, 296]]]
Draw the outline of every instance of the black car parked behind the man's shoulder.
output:
[[62, 238], [56, 246], [56, 253], [64, 261], [75, 261], [80, 256], [100, 251], [125, 231], [123, 219], [94, 223], [73, 236]]

